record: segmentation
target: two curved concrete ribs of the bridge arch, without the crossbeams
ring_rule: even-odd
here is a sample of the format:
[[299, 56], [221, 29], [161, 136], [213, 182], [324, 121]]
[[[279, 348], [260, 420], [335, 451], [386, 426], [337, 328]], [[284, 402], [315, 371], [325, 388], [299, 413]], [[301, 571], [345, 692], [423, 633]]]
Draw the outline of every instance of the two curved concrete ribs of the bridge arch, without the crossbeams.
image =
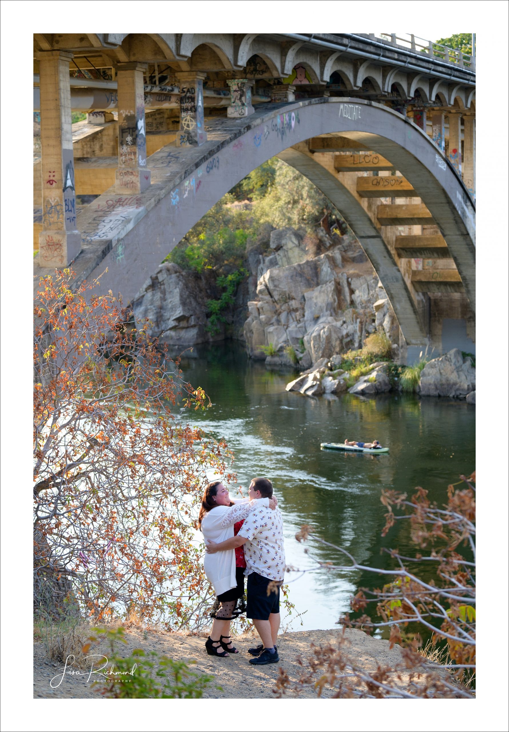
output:
[[[339, 134], [372, 150], [412, 184], [440, 228], [475, 310], [475, 208], [460, 176], [431, 139], [409, 119], [375, 102], [324, 97], [275, 107], [249, 119], [214, 121], [200, 148], [165, 146], [151, 155], [151, 187], [130, 199], [113, 189], [78, 216], [83, 250], [73, 264], [78, 280], [103, 275], [101, 288], [132, 299], [167, 253], [238, 181], [274, 155], [300, 169], [338, 206], [385, 287], [407, 343], [426, 333], [399, 267], [380, 229], [347, 187], [326, 175], [305, 144]], [[326, 139], [327, 137], [325, 137]], [[304, 143], [304, 144], [302, 144]], [[320, 173], [320, 174], [319, 174]], [[39, 269], [40, 273], [45, 272]]]

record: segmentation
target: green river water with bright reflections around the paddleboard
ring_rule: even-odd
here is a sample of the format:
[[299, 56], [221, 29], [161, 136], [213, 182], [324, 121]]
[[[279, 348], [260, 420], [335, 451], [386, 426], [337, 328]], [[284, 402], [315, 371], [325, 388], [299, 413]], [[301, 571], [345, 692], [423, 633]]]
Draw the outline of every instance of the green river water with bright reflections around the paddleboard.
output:
[[[358, 587], [382, 586], [383, 578], [316, 570], [312, 556], [339, 564], [341, 555], [314, 542], [297, 542], [296, 531], [311, 524], [320, 537], [374, 567], [391, 566], [391, 559], [380, 554], [383, 546], [415, 555], [405, 522], [380, 537], [385, 523], [380, 489], [411, 493], [422, 485], [431, 498], [444, 502], [448, 484], [475, 468], [475, 408], [464, 400], [393, 393], [372, 399], [348, 394], [303, 397], [284, 389], [295, 378], [292, 373], [267, 370], [263, 362], [248, 359], [237, 343], [197, 346], [195, 354], [181, 363], [184, 377], [202, 386], [214, 406], [194, 412], [192, 423], [225, 438], [235, 452], [234, 468], [243, 488], [255, 476], [271, 479], [284, 517], [287, 564], [309, 570], [287, 574], [290, 600], [303, 614], [295, 620], [295, 612], [286, 619], [283, 613], [282, 624], [292, 621], [291, 630], [335, 627]], [[320, 449], [320, 442], [344, 438], [377, 438], [390, 452]], [[235, 493], [235, 486], [228, 488]], [[413, 567], [431, 578], [429, 566]]]

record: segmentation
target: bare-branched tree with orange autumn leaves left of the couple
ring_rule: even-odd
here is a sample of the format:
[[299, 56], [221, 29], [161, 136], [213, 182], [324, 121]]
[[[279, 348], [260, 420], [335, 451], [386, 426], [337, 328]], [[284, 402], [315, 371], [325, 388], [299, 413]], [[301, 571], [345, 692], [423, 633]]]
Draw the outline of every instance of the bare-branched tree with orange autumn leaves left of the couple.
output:
[[178, 359], [73, 277], [42, 277], [34, 303], [34, 608], [199, 624], [192, 507], [230, 453], [172, 413], [209, 404]]

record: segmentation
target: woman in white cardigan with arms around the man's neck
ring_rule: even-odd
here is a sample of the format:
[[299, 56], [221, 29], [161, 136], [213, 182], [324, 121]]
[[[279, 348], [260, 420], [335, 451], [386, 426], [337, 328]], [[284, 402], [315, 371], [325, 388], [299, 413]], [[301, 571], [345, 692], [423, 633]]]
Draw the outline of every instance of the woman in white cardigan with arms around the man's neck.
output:
[[[234, 536], [233, 524], [244, 520], [247, 515], [259, 506], [274, 509], [276, 498], [238, 498], [232, 501], [228, 489], [219, 480], [210, 482], [203, 493], [198, 526], [203, 532], [206, 542], [224, 542]], [[244, 598], [244, 567], [235, 566], [235, 550], [206, 554], [205, 573], [214, 586], [217, 602], [214, 607], [214, 621], [211, 635], [205, 647], [211, 656], [227, 656], [227, 651], [236, 653], [231, 646], [230, 623], [238, 616], [235, 612], [237, 601]], [[222, 648], [222, 651], [219, 649]]]

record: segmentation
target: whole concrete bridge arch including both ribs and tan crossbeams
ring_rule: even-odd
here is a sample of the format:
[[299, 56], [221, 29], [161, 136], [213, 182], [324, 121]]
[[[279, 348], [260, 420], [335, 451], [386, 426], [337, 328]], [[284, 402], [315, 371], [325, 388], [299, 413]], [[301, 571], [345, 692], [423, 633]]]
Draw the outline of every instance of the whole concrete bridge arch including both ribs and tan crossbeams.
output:
[[[342, 212], [408, 346], [472, 350], [472, 197], [429, 135], [390, 108], [357, 98], [258, 105], [249, 119], [210, 122], [200, 146], [163, 146], [146, 160], [146, 190], [119, 194], [112, 187], [78, 212], [78, 279], [108, 268], [102, 289], [132, 299], [211, 206], [274, 155]], [[36, 275], [50, 269], [40, 264], [42, 258]]]

